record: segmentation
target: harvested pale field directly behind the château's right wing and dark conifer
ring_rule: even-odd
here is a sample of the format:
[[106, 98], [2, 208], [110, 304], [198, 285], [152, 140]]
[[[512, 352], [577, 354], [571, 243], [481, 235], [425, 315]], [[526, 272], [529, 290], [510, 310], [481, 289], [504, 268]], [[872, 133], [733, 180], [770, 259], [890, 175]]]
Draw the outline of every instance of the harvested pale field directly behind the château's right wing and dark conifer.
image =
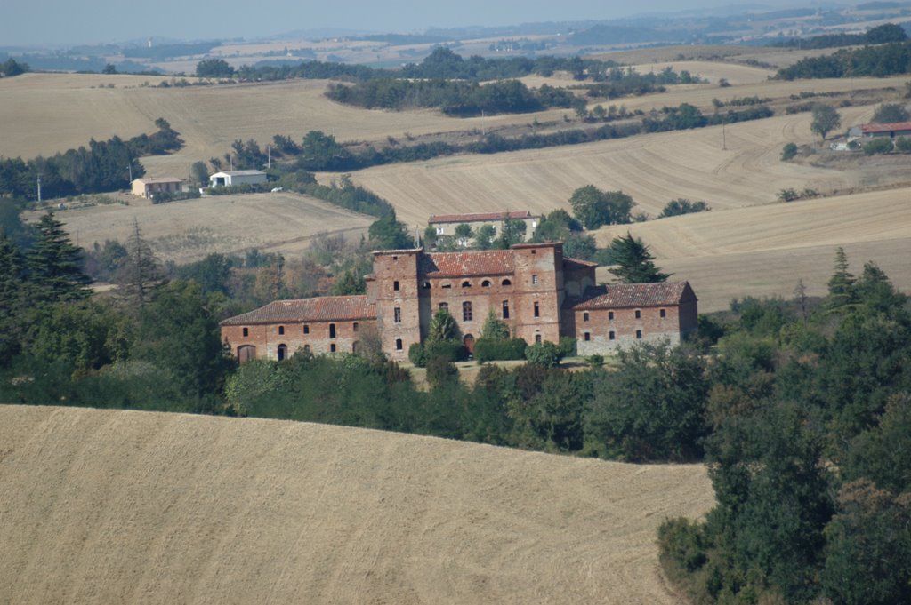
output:
[[627, 230], [649, 245], [659, 267], [691, 281], [701, 311], [728, 308], [735, 296], [791, 297], [798, 278], [810, 295], [824, 295], [839, 246], [855, 274], [873, 260], [911, 291], [907, 188], [603, 227], [599, 245]]

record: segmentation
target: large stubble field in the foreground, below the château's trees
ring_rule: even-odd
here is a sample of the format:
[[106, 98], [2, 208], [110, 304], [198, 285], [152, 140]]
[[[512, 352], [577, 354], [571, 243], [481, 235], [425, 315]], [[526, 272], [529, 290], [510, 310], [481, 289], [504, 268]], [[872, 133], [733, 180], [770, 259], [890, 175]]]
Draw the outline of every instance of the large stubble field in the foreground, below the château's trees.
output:
[[0, 407], [11, 603], [676, 603], [701, 466], [364, 429]]

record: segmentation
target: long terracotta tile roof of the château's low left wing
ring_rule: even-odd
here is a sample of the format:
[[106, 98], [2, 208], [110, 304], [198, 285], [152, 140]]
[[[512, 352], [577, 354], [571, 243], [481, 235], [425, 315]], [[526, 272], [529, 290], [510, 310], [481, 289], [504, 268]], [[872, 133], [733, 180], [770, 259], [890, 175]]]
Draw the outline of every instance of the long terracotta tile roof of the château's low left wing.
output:
[[350, 321], [376, 318], [376, 306], [363, 295], [350, 297], [297, 298], [276, 300], [265, 307], [252, 310], [221, 322], [222, 326], [275, 324], [287, 321]]

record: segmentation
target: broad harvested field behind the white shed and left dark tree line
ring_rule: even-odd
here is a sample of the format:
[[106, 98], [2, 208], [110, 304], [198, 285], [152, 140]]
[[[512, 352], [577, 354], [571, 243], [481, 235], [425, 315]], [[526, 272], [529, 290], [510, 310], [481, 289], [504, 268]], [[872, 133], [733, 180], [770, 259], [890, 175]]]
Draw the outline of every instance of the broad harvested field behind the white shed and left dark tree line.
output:
[[[447, 117], [433, 110], [381, 111], [335, 103], [323, 96], [325, 80], [270, 84], [158, 88], [160, 76], [25, 74], [0, 80], [0, 156], [53, 155], [87, 146], [89, 138], [129, 138], [153, 132], [164, 117], [186, 146], [170, 156], [142, 158], [148, 176], [186, 176], [198, 160], [221, 157], [236, 139], [261, 147], [272, 136], [300, 141], [310, 130], [340, 141], [405, 138], [503, 124], [530, 123], [535, 116]], [[149, 82], [151, 87], [140, 86]], [[114, 88], [107, 88], [113, 85]], [[104, 86], [104, 87], [102, 87]]]

